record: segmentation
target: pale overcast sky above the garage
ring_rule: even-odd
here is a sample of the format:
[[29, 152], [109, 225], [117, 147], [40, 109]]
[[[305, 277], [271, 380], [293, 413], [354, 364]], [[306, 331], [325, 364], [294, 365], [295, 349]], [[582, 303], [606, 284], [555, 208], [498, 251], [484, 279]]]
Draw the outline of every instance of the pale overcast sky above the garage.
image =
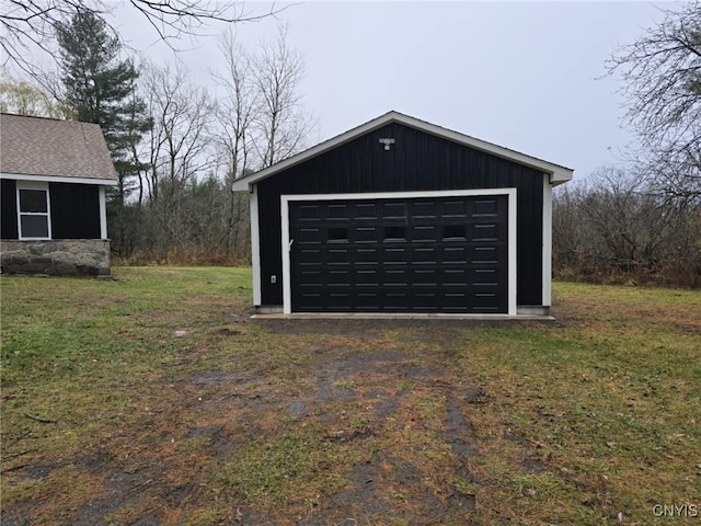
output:
[[[284, 5], [278, 3], [277, 5]], [[266, 4], [249, 3], [254, 11]], [[621, 127], [620, 80], [605, 61], [662, 19], [657, 2], [304, 2], [279, 21], [235, 26], [256, 46], [288, 23], [306, 61], [303, 102], [317, 141], [397, 110], [506, 148], [575, 169], [584, 178], [620, 163], [632, 140]], [[133, 9], [116, 26], [145, 55], [172, 52]], [[128, 16], [128, 18], [127, 18]], [[212, 35], [221, 27], [211, 27]], [[187, 42], [183, 48], [191, 47]], [[220, 67], [217, 37], [179, 54], [193, 80]]]

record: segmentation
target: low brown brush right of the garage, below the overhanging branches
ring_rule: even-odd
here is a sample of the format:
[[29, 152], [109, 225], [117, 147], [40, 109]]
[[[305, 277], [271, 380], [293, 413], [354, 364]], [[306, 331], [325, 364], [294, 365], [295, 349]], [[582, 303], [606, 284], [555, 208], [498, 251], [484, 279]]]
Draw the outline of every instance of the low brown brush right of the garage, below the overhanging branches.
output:
[[556, 278], [701, 287], [701, 206], [616, 168], [555, 188]]

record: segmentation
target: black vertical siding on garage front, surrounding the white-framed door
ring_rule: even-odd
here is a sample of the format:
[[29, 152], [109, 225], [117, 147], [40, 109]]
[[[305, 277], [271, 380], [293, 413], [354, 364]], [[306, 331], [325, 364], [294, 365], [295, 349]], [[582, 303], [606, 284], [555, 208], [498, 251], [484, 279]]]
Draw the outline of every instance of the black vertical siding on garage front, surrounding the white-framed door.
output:
[[[383, 137], [395, 139], [389, 151]], [[543, 183], [538, 170], [388, 124], [257, 183], [262, 305], [283, 305], [280, 195], [502, 187], [517, 188], [517, 304], [541, 305]]]

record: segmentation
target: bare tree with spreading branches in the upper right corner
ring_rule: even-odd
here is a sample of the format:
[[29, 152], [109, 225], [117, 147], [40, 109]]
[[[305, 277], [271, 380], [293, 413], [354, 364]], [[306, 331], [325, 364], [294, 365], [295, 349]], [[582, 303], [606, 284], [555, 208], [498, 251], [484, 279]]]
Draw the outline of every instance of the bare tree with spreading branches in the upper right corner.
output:
[[625, 82], [627, 122], [642, 144], [639, 163], [656, 187], [701, 197], [701, 1], [664, 20], [607, 62]]

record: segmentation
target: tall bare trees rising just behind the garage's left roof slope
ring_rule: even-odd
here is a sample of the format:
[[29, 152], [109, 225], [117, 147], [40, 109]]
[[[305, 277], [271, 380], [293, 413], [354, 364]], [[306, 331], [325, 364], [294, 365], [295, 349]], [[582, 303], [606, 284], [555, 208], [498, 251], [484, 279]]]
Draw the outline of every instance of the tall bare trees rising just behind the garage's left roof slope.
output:
[[234, 179], [299, 151], [313, 121], [299, 94], [303, 61], [287, 45], [286, 30], [256, 53], [239, 44], [231, 31], [222, 35], [219, 47], [226, 68], [214, 73], [219, 87], [215, 141], [228, 199], [219, 207], [222, 228], [217, 250], [231, 254], [248, 247], [249, 228], [248, 196], [230, 191]]

